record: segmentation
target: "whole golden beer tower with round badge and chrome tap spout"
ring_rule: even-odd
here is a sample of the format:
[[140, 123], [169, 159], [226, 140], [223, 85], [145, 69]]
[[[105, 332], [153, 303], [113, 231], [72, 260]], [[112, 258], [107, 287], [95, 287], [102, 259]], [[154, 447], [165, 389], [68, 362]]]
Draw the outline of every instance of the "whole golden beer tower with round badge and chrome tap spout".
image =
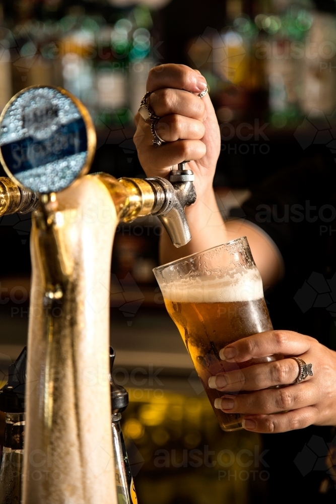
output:
[[0, 122], [10, 177], [0, 178], [0, 215], [33, 211], [23, 503], [117, 504], [108, 380], [114, 233], [120, 220], [157, 215], [175, 246], [187, 243], [192, 172], [176, 170], [172, 182], [87, 175], [92, 120], [60, 88], [21, 91]]

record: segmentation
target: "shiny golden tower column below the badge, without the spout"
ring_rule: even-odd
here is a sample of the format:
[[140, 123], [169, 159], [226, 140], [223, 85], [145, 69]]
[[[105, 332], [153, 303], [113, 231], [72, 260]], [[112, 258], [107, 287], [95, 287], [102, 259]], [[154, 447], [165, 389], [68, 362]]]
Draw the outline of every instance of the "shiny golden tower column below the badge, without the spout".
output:
[[31, 231], [23, 502], [116, 504], [106, 349], [118, 218], [98, 177], [54, 196]]

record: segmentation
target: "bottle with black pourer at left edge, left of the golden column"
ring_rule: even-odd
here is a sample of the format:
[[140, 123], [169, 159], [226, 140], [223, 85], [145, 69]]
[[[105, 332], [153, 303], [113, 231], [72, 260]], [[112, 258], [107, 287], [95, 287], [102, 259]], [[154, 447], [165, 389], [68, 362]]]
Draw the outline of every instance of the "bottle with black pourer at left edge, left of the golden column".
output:
[[0, 390], [0, 410], [6, 413], [3, 459], [0, 469], [0, 504], [19, 504], [22, 491], [25, 430], [27, 348], [8, 369], [8, 383]]

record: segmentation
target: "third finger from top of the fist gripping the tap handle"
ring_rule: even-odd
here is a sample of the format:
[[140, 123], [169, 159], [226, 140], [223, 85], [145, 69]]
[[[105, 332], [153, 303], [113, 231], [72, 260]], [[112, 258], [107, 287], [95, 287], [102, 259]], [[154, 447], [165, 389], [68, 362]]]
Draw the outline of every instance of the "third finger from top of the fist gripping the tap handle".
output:
[[165, 142], [176, 140], [200, 140], [205, 134], [205, 125], [183, 115], [167, 115], [155, 125], [155, 131]]

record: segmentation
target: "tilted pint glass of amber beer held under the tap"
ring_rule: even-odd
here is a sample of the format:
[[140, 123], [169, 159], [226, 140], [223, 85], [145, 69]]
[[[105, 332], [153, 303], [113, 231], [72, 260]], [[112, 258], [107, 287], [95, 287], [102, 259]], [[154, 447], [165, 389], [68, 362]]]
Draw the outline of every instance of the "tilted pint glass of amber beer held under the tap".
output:
[[272, 330], [262, 281], [246, 237], [192, 254], [154, 270], [175, 322], [223, 430], [242, 428], [239, 414], [214, 407], [224, 392], [210, 389], [210, 376], [276, 360], [275, 356], [235, 364], [219, 351], [229, 343]]

